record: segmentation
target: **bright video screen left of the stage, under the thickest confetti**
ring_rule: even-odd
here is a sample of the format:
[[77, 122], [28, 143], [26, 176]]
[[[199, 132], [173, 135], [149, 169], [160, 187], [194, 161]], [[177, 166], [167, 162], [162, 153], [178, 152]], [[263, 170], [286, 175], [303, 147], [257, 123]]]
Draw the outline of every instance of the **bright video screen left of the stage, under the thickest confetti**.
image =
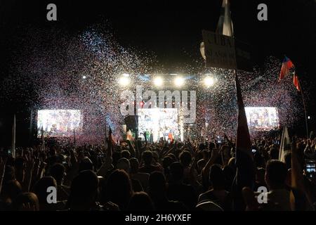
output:
[[37, 136], [73, 136], [81, 134], [82, 120], [80, 110], [38, 110], [37, 112]]

